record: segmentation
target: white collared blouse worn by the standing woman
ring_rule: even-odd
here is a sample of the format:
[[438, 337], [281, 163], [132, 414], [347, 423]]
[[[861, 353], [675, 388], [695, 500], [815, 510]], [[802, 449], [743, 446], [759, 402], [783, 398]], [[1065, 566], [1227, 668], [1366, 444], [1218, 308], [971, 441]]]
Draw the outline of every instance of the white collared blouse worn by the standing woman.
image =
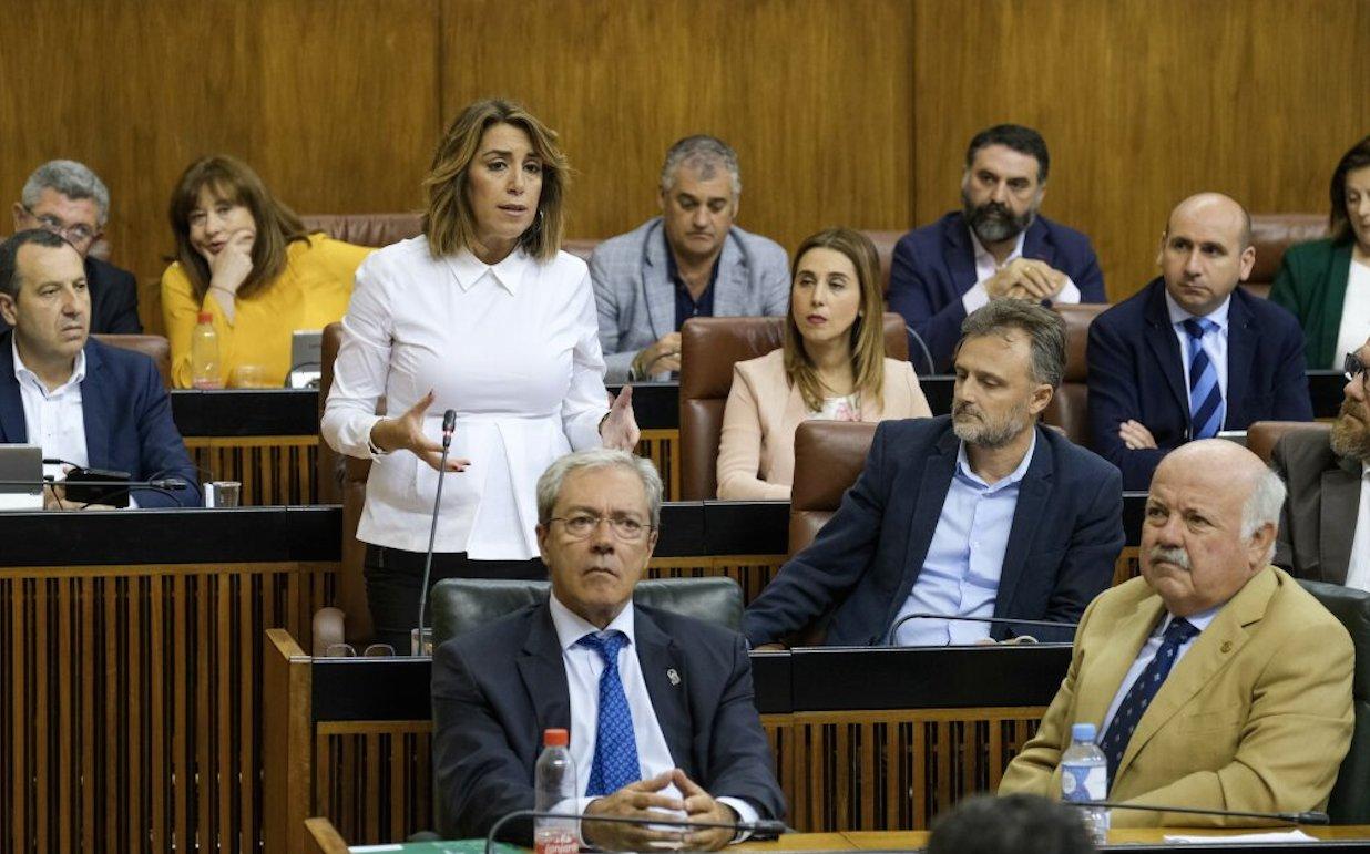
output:
[[370, 457], [358, 539], [427, 550], [437, 472], [410, 452], [373, 454], [371, 427], [430, 389], [425, 432], [456, 411], [437, 552], [475, 560], [537, 556], [537, 478], [553, 460], [600, 445], [608, 412], [595, 297], [585, 261], [540, 264], [516, 250], [488, 266], [470, 252], [433, 259], [426, 237], [373, 253], [356, 271], [322, 434]]

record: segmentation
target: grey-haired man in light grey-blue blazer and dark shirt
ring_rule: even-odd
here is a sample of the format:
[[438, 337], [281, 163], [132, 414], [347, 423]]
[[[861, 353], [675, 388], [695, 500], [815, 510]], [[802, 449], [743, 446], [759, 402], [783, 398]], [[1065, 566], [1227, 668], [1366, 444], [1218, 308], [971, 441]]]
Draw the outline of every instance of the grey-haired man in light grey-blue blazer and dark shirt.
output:
[[743, 179], [722, 140], [685, 137], [662, 166], [662, 215], [590, 256], [606, 380], [667, 379], [690, 318], [784, 316], [789, 261], [734, 224]]

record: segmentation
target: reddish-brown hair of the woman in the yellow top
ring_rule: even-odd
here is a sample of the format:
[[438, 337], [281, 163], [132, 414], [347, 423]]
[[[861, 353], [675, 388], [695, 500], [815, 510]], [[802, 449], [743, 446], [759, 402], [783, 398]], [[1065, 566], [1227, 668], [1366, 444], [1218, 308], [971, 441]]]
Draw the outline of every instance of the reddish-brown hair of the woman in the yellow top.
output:
[[171, 234], [175, 237], [175, 260], [190, 279], [195, 298], [210, 290], [210, 263], [190, 245], [190, 212], [200, 205], [200, 190], [252, 214], [256, 240], [252, 242], [252, 272], [238, 286], [238, 297], [248, 298], [271, 286], [285, 272], [285, 249], [295, 241], [308, 242], [304, 223], [295, 211], [277, 201], [247, 163], [227, 155], [200, 157], [186, 167], [171, 190]]

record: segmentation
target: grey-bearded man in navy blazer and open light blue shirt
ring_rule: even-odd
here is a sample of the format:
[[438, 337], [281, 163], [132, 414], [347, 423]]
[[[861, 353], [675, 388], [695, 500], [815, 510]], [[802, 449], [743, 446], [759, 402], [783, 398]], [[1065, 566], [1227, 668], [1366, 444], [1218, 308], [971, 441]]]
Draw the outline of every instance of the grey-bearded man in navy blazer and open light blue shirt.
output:
[[748, 606], [754, 647], [829, 612], [837, 646], [1069, 642], [1073, 625], [901, 620], [1074, 623], [1108, 587], [1123, 545], [1118, 469], [1036, 424], [1064, 371], [1064, 323], [995, 300], [963, 331], [952, 413], [875, 428], [837, 513]]

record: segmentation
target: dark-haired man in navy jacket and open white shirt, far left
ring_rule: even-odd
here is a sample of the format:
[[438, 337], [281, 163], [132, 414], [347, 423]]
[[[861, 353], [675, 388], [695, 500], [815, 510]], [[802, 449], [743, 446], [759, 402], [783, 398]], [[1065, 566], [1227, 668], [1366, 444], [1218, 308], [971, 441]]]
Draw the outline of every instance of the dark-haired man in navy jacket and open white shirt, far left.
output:
[[[171, 422], [156, 365], [89, 337], [90, 294], [81, 255], [45, 230], [0, 244], [0, 442], [41, 445], [45, 458], [179, 479], [178, 491], [133, 490], [134, 506], [195, 506], [195, 465]], [[48, 505], [68, 509], [63, 490]]]

